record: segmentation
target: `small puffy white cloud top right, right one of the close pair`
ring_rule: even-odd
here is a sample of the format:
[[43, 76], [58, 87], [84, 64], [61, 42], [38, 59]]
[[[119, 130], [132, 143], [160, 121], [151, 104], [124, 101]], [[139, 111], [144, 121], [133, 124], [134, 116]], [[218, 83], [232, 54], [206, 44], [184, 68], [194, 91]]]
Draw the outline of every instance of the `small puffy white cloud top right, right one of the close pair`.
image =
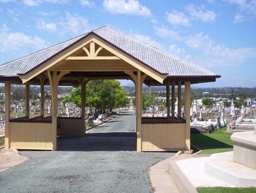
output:
[[186, 9], [193, 19], [201, 20], [202, 22], [212, 22], [216, 17], [214, 11], [204, 11], [204, 6], [196, 7], [193, 4], [188, 4]]

